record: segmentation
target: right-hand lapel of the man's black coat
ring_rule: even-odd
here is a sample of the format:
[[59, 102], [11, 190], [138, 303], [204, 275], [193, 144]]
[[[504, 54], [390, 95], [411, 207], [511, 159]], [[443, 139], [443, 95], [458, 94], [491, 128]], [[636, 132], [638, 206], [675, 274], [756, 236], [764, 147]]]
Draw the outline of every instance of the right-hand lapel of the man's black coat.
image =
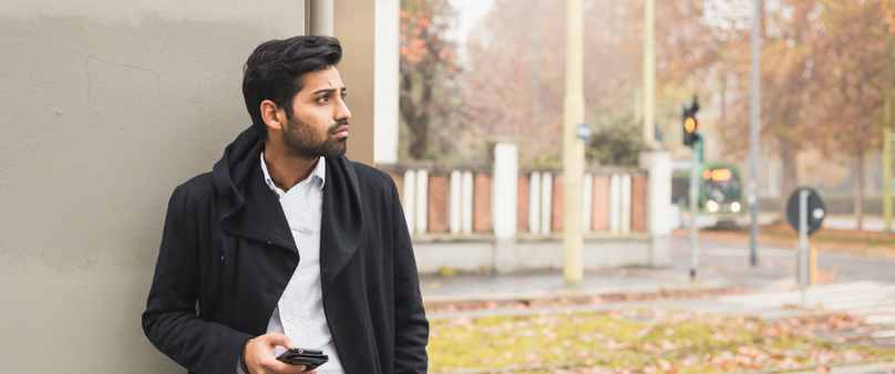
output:
[[354, 168], [346, 157], [327, 158], [320, 221], [320, 276], [325, 305], [332, 280], [357, 252], [362, 231], [363, 212]]

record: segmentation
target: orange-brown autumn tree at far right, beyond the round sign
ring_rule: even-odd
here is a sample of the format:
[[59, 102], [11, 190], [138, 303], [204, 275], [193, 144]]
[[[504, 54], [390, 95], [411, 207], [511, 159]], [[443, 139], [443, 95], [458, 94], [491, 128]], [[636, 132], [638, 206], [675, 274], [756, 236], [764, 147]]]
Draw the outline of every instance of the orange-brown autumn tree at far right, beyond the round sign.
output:
[[[885, 50], [888, 34], [881, 1], [843, 3], [821, 0], [826, 40], [815, 56], [820, 80], [830, 87], [819, 92], [817, 121], [826, 142], [821, 149], [854, 160], [855, 219], [863, 229], [866, 156], [882, 145]], [[814, 60], [812, 60], [814, 61]]]

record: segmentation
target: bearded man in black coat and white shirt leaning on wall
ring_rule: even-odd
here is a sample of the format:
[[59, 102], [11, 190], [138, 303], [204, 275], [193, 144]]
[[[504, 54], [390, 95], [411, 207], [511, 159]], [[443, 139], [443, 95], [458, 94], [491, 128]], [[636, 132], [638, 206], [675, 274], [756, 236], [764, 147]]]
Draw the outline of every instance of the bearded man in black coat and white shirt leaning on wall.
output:
[[[274, 40], [249, 56], [253, 126], [168, 202], [143, 329], [191, 373], [424, 373], [429, 323], [391, 178], [344, 157], [333, 38]], [[310, 371], [308, 373], [315, 373]]]

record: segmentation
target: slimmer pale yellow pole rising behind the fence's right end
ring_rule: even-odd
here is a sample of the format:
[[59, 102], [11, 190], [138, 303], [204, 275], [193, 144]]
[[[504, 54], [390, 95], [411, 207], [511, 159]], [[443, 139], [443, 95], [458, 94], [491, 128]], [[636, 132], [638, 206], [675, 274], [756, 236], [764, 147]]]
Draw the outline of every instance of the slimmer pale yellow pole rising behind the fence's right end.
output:
[[644, 141], [656, 139], [656, 0], [644, 0]]

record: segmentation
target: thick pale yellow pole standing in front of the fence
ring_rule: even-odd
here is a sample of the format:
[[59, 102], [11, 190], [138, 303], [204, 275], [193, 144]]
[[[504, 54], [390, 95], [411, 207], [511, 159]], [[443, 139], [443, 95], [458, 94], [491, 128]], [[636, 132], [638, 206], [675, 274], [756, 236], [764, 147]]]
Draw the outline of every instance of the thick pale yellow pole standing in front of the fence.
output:
[[563, 101], [563, 274], [566, 282], [584, 277], [582, 247], [582, 179], [585, 142], [576, 136], [584, 123], [583, 0], [566, 0], [566, 97]]

